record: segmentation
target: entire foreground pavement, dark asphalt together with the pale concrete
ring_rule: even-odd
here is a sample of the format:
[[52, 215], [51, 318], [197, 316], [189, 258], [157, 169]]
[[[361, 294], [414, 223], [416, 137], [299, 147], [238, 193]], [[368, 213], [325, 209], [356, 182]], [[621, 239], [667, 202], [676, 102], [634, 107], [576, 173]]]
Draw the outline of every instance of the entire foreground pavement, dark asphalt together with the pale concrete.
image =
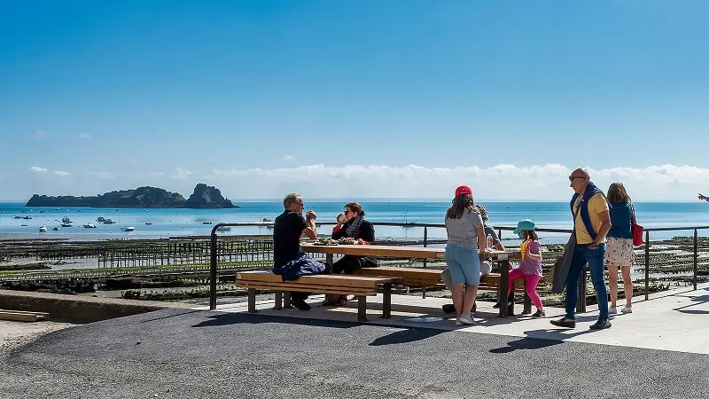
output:
[[707, 301], [707, 286], [666, 293], [601, 332], [594, 311], [573, 331], [492, 313], [456, 329], [423, 323], [444, 301], [401, 296], [368, 324], [353, 308], [166, 309], [0, 356], [0, 398], [706, 398]]

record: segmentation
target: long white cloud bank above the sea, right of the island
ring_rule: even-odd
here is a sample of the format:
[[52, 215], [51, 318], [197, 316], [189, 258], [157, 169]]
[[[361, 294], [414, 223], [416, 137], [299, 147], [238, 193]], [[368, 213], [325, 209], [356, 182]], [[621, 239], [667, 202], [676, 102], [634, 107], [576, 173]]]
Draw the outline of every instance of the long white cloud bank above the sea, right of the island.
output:
[[[706, 168], [587, 169], [602, 190], [612, 182], [622, 182], [635, 200], [694, 200], [697, 192], [709, 192]], [[568, 181], [572, 170], [559, 164], [491, 168], [319, 164], [213, 170], [202, 177], [233, 198], [279, 198], [293, 191], [310, 198], [452, 198], [457, 185], [468, 184], [482, 200], [566, 200], [572, 193]]]

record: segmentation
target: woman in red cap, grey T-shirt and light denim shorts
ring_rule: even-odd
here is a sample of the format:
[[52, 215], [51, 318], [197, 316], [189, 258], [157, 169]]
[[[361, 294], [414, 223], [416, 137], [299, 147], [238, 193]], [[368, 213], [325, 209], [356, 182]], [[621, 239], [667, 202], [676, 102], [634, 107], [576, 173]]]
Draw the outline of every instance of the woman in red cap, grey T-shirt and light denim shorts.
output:
[[472, 190], [467, 185], [456, 189], [453, 205], [446, 212], [446, 231], [446, 263], [453, 280], [456, 325], [474, 325], [471, 311], [480, 285], [485, 232], [482, 217], [472, 200]]

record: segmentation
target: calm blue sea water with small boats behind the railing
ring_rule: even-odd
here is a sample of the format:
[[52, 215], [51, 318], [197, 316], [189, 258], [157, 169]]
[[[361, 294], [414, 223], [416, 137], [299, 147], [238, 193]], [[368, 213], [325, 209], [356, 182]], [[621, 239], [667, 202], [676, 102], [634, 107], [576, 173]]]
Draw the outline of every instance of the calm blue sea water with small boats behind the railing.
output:
[[[490, 224], [494, 226], [516, 226], [520, 219], [530, 218], [537, 227], [570, 229], [572, 216], [568, 202], [480, 202], [487, 207]], [[443, 223], [450, 202], [440, 201], [362, 201], [367, 219], [372, 222], [397, 223]], [[208, 235], [212, 223], [261, 222], [275, 219], [283, 211], [281, 201], [238, 202], [238, 209], [113, 209], [70, 207], [24, 207], [21, 203], [0, 203], [0, 237], [43, 237], [68, 239], [119, 239], [119, 238], [167, 238], [187, 235]], [[314, 209], [317, 222], [333, 222], [341, 212], [344, 202], [308, 201], [306, 209]], [[645, 227], [678, 227], [709, 225], [709, 204], [705, 202], [638, 202], [635, 204], [638, 223]], [[23, 211], [25, 211], [23, 213]], [[14, 219], [13, 216], [31, 216], [31, 220]], [[74, 221], [73, 227], [60, 227], [62, 217]], [[98, 216], [111, 218], [115, 224], [102, 224]], [[96, 229], [83, 228], [84, 223], [94, 223]], [[145, 223], [152, 223], [150, 225]], [[22, 226], [27, 224], [27, 226]], [[49, 231], [39, 232], [41, 225]], [[135, 231], [121, 231], [121, 226], [134, 226]], [[59, 231], [52, 231], [58, 227]], [[321, 233], [331, 231], [331, 226], [323, 226]], [[269, 234], [263, 227], [233, 228], [221, 232], [223, 235]], [[430, 238], [445, 238], [444, 229], [429, 229]], [[651, 239], [665, 239], [677, 235], [690, 235], [691, 231], [655, 232]], [[709, 231], [700, 231], [709, 235]], [[422, 228], [401, 228], [379, 226], [378, 238], [421, 238]], [[503, 231], [503, 239], [511, 238], [510, 232]], [[546, 242], [565, 241], [565, 234], [541, 233]]]

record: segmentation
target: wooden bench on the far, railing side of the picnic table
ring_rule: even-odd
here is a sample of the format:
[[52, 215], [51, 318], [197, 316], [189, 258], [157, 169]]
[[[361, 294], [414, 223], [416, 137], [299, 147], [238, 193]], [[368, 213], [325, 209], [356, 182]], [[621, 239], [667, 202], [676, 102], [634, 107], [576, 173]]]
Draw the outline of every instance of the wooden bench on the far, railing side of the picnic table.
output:
[[[445, 287], [443, 284], [443, 279], [441, 274], [443, 270], [438, 269], [420, 269], [420, 268], [395, 268], [380, 266], [378, 268], [364, 268], [357, 270], [356, 275], [362, 276], [384, 276], [384, 277], [398, 277], [401, 278], [401, 286], [408, 286], [411, 288], [427, 288], [427, 287]], [[540, 284], [544, 282], [541, 278]], [[502, 297], [502, 285], [500, 284], [500, 273], [488, 273], [480, 277], [480, 285], [478, 290], [484, 291], [495, 291], [498, 293], [498, 297]], [[525, 279], [515, 278], [512, 280], [512, 292], [518, 290], [525, 292]], [[531, 312], [532, 310], [532, 300], [525, 294], [525, 302], [523, 312]], [[514, 301], [511, 306], [508, 306], [508, 313], [514, 313]]]

